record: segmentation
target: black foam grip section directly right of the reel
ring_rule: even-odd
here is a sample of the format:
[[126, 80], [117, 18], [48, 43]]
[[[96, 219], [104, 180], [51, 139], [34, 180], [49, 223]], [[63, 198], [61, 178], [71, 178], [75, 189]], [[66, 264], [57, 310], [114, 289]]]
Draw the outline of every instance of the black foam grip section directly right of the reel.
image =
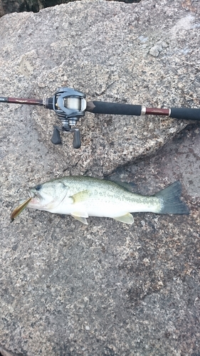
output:
[[95, 108], [90, 110], [95, 114], [113, 114], [113, 115], [141, 115], [142, 105], [104, 103], [102, 101], [93, 101]]

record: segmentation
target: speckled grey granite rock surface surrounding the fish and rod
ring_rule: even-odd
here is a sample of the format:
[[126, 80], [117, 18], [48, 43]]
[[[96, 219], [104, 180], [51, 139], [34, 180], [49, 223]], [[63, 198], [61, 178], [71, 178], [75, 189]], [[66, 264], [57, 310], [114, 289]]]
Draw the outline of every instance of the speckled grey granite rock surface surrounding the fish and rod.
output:
[[[198, 1], [169, 0], [82, 0], [6, 15], [0, 19], [0, 93], [43, 97], [69, 85], [88, 100], [199, 106], [198, 16]], [[198, 355], [198, 123], [147, 157], [185, 123], [87, 114], [83, 147], [74, 151], [69, 137], [63, 147], [51, 145], [55, 121], [43, 108], [1, 104], [0, 352]], [[100, 218], [83, 226], [70, 216], [26, 209], [10, 224], [28, 187], [63, 174], [102, 176], [136, 158], [112, 177], [135, 181], [142, 194], [179, 179], [189, 216], [140, 213], [133, 226]]]

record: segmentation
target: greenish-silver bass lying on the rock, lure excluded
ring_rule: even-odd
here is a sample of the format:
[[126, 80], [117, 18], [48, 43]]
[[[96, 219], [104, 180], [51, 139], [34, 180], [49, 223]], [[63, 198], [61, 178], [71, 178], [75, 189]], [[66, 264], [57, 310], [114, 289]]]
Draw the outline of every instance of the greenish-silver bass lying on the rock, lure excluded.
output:
[[70, 214], [83, 224], [89, 216], [109, 217], [133, 224], [135, 212], [189, 214], [181, 201], [181, 183], [174, 182], [152, 196], [135, 194], [117, 182], [88, 176], [51, 179], [28, 190], [27, 207], [53, 214]]

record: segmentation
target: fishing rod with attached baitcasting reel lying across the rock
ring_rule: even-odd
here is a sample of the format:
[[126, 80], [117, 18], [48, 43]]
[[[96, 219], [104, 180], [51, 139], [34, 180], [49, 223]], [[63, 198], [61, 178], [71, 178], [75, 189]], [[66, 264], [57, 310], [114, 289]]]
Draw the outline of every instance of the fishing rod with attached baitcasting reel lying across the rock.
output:
[[59, 88], [52, 98], [27, 99], [0, 97], [0, 103], [14, 103], [26, 105], [41, 105], [43, 108], [54, 110], [62, 126], [53, 126], [53, 145], [59, 145], [60, 132], [73, 133], [73, 147], [80, 148], [80, 131], [76, 124], [85, 111], [94, 114], [112, 115], [162, 115], [179, 120], [200, 120], [200, 109], [190, 108], [145, 108], [142, 105], [130, 105], [119, 103], [105, 103], [102, 101], [86, 101], [86, 95], [73, 88]]

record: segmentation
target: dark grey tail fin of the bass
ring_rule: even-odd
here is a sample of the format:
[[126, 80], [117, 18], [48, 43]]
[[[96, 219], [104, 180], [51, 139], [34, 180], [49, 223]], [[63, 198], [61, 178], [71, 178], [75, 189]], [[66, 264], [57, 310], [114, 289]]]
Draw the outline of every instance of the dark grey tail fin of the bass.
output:
[[164, 188], [155, 196], [162, 201], [162, 209], [159, 214], [189, 214], [186, 204], [181, 201], [181, 183], [174, 182]]

